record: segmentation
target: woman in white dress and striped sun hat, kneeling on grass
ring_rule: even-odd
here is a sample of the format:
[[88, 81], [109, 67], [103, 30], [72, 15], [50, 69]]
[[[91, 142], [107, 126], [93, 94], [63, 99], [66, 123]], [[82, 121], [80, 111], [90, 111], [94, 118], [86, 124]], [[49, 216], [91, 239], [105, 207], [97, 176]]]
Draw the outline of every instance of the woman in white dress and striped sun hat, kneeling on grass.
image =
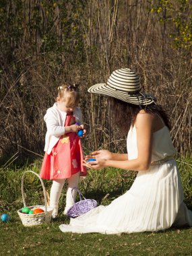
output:
[[[61, 225], [63, 232], [158, 231], [170, 226], [192, 226], [192, 212], [183, 203], [183, 188], [169, 133], [169, 122], [154, 97], [141, 93], [139, 76], [131, 69], [118, 69], [106, 84], [96, 84], [88, 92], [113, 97], [115, 119], [119, 127], [129, 129], [127, 153], [107, 150], [88, 158], [94, 169], [115, 167], [138, 171], [131, 189], [110, 205], [100, 205], [87, 214]], [[127, 129], [127, 131], [128, 131]]]

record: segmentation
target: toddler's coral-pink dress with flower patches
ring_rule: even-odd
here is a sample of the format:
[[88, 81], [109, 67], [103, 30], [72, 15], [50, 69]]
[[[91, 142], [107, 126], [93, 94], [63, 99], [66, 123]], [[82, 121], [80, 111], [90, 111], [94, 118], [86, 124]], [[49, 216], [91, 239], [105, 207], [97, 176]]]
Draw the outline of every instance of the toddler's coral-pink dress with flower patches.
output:
[[[75, 117], [67, 115], [65, 126], [74, 125]], [[84, 156], [81, 141], [77, 133], [61, 135], [51, 154], [44, 154], [40, 177], [42, 179], [57, 180], [70, 178], [80, 172], [86, 176], [86, 167], [82, 165]]]

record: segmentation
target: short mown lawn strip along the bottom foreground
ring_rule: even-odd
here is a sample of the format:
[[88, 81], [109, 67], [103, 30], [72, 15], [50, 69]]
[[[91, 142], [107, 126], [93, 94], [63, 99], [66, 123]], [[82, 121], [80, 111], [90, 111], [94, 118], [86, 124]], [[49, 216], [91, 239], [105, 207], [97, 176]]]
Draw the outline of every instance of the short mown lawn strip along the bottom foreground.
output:
[[0, 255], [192, 255], [192, 228], [104, 235], [71, 234], [57, 222], [25, 228], [20, 221], [1, 224]]

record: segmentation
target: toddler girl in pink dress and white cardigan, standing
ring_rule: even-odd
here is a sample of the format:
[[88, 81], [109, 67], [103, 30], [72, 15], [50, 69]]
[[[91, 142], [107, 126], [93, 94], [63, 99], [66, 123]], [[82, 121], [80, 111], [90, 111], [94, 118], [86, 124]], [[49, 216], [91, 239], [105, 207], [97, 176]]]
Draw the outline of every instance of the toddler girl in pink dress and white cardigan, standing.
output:
[[[46, 110], [46, 137], [44, 146], [44, 160], [40, 171], [42, 179], [53, 180], [50, 192], [50, 206], [53, 207], [53, 218], [58, 214], [58, 203], [65, 179], [68, 188], [64, 214], [73, 205], [79, 175], [86, 175], [86, 168], [82, 165], [83, 151], [77, 131], [84, 129], [82, 125], [82, 111], [77, 108], [79, 91], [77, 87], [64, 84], [59, 86], [57, 102]], [[78, 125], [77, 125], [78, 123]], [[86, 130], [84, 130], [86, 133]]]

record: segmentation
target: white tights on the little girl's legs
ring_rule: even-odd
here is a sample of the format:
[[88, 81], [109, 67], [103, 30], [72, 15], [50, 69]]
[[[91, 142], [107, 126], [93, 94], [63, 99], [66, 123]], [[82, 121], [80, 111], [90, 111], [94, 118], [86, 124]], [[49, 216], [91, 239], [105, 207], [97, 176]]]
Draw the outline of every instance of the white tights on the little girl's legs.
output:
[[[67, 179], [68, 188], [66, 193], [66, 205], [64, 214], [67, 213], [67, 210], [73, 205], [73, 199], [75, 201], [77, 191], [73, 190], [73, 199], [71, 196], [71, 190], [73, 187], [77, 187], [79, 184], [79, 172], [73, 174], [70, 178]], [[65, 184], [65, 179], [53, 180], [53, 185], [51, 186], [50, 191], [50, 206], [53, 207], [53, 218], [55, 218], [58, 214], [58, 204], [59, 198], [61, 196], [61, 191], [63, 189], [63, 185]]]

